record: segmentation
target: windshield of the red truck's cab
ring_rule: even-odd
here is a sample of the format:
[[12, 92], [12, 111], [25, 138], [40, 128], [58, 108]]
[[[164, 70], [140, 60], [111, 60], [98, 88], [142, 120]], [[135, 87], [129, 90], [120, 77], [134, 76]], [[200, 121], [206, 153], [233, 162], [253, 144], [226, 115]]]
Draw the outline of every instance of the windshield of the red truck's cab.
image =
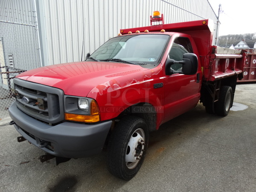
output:
[[[158, 64], [169, 35], [126, 35], [112, 38], [90, 55], [99, 61], [120, 60], [134, 64]], [[122, 61], [121, 61], [122, 60]]]

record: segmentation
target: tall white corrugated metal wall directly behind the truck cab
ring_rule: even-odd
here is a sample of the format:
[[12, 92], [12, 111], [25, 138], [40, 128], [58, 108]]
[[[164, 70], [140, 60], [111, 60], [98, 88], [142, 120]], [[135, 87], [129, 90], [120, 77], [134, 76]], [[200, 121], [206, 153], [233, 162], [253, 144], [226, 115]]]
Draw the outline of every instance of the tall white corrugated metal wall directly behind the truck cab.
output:
[[[81, 61], [119, 29], [150, 25], [158, 10], [165, 23], [217, 17], [208, 0], [36, 0], [43, 64]], [[216, 28], [216, 26], [215, 26]]]

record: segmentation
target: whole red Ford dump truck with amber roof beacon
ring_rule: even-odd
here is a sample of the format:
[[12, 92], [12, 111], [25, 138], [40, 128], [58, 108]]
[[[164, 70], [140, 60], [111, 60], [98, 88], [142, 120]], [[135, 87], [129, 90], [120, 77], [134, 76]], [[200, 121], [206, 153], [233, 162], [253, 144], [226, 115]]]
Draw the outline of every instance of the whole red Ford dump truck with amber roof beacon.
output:
[[18, 141], [45, 151], [42, 162], [106, 148], [109, 171], [131, 179], [149, 132], [198, 102], [208, 113], [229, 113], [246, 53], [212, 46], [212, 38], [210, 20], [121, 29], [86, 61], [19, 74], [9, 108]]

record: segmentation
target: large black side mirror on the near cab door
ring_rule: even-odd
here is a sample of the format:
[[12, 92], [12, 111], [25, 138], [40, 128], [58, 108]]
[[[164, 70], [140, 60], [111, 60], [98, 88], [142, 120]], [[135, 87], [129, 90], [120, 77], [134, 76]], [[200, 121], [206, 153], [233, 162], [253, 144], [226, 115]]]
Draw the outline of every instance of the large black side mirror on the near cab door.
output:
[[[175, 71], [171, 68], [173, 64], [182, 64], [181, 71]], [[166, 60], [166, 75], [172, 75], [175, 73], [194, 75], [198, 70], [198, 58], [194, 53], [184, 53], [182, 61], [175, 61], [173, 59], [167, 58]]]

